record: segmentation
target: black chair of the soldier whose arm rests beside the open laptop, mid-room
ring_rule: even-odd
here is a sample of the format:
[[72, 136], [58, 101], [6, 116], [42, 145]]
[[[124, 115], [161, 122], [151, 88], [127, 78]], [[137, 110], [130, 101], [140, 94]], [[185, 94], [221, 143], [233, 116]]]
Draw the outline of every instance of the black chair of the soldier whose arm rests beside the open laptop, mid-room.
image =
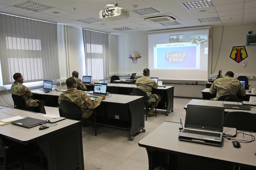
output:
[[[73, 102], [70, 102], [68, 100], [61, 101], [61, 116], [66, 117], [68, 119], [74, 119], [74, 120], [79, 120], [82, 121], [83, 123], [83, 114], [84, 110], [81, 110], [81, 108], [74, 104]], [[96, 112], [94, 109], [92, 109], [94, 112], [94, 126], [95, 126], [95, 136], [97, 136], [97, 129], [96, 129]]]

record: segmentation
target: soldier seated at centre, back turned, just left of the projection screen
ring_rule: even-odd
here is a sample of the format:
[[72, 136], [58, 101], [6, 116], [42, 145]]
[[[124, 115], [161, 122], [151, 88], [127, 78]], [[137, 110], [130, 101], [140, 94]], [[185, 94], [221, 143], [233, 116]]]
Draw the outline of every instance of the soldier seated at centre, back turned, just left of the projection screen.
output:
[[[137, 88], [142, 89], [143, 91], [145, 91], [147, 93], [148, 96], [150, 96], [152, 88], [157, 88], [158, 84], [155, 82], [155, 80], [152, 80], [149, 77], [149, 75], [150, 75], [149, 69], [144, 69], [143, 75], [144, 75], [143, 77], [136, 80], [135, 84], [137, 85]], [[153, 94], [153, 95], [155, 97], [150, 96], [148, 98], [148, 103], [156, 102], [156, 106], [157, 106], [157, 104], [161, 100], [161, 96], [159, 94]], [[155, 104], [152, 104], [150, 110], [147, 113], [149, 116], [155, 116], [155, 113], [153, 113], [154, 108], [155, 108]]]

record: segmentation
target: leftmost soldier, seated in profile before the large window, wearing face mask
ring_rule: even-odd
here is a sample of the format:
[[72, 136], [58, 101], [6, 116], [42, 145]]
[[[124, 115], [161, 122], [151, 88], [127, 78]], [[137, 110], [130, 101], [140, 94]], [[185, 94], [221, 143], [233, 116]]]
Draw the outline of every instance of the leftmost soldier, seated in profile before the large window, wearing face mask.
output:
[[17, 96], [22, 96], [24, 100], [26, 100], [26, 106], [29, 107], [37, 107], [40, 106], [40, 112], [45, 113], [44, 106], [45, 106], [45, 101], [43, 100], [34, 100], [31, 99], [32, 93], [29, 90], [28, 87], [22, 85], [23, 83], [23, 76], [20, 73], [15, 73], [13, 75], [13, 79], [15, 80], [11, 86], [11, 94], [17, 95]]

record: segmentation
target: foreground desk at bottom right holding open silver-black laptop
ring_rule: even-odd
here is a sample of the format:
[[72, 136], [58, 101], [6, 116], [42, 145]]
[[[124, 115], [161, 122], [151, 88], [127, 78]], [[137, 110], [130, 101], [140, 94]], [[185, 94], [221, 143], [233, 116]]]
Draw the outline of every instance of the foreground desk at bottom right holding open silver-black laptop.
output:
[[165, 169], [227, 169], [225, 167], [233, 165], [256, 168], [256, 141], [240, 143], [241, 148], [233, 147], [232, 140], [226, 138], [222, 147], [179, 141], [179, 127], [180, 123], [164, 122], [139, 141], [139, 146], [147, 150], [149, 170], [157, 166], [167, 167]]

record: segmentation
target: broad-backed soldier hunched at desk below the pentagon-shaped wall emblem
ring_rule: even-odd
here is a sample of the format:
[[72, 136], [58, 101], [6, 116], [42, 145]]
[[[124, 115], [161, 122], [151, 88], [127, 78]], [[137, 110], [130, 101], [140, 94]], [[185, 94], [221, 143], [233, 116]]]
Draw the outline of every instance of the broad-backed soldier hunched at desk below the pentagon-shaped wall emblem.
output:
[[216, 97], [211, 100], [218, 100], [218, 98], [222, 95], [239, 95], [245, 96], [245, 88], [242, 83], [234, 78], [234, 73], [232, 71], [228, 71], [224, 77], [216, 79], [211, 87], [210, 93], [216, 93]]

